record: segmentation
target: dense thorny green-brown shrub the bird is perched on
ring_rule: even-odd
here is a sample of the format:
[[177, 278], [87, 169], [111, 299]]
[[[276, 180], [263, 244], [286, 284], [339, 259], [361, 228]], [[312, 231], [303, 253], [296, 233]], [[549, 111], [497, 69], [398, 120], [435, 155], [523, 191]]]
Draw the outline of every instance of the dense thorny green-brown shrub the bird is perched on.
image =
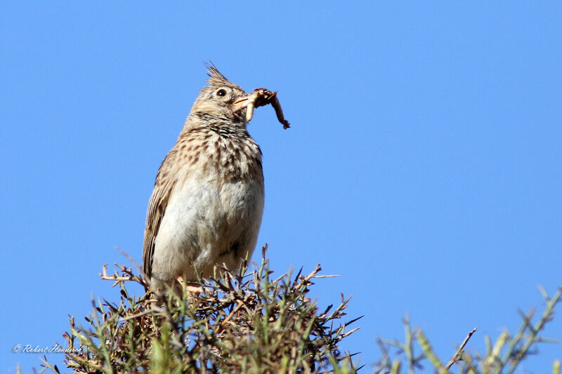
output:
[[[265, 255], [263, 248], [263, 254]], [[115, 281], [119, 304], [98, 300], [87, 327], [70, 319], [65, 363], [74, 373], [353, 373], [339, 342], [357, 328], [343, 318], [350, 298], [319, 312], [307, 298], [320, 265], [303, 276], [271, 279], [267, 260], [247, 272], [222, 269], [200, 281], [200, 293], [185, 288], [130, 295], [128, 282], [147, 286], [133, 269], [103, 279]], [[55, 370], [44, 360], [47, 368]]]

